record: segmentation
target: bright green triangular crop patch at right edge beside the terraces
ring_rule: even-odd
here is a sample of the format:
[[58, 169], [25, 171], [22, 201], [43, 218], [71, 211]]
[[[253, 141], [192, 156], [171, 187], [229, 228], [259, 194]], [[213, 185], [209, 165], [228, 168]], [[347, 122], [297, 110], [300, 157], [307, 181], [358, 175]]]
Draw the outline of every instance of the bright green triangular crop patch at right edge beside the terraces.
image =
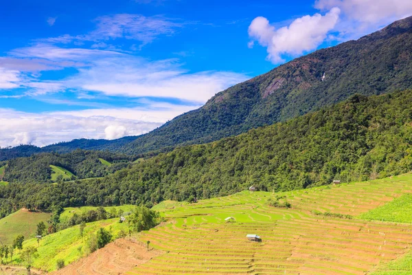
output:
[[399, 223], [412, 223], [412, 194], [405, 194], [393, 199], [383, 206], [361, 214], [360, 219], [367, 221], [393, 221]]

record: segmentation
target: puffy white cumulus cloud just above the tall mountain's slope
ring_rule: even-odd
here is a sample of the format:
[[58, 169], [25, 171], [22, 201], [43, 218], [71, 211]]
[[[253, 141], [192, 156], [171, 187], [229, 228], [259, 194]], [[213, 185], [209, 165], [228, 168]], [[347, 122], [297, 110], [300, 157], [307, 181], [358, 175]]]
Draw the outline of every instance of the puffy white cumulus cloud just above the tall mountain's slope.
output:
[[[268, 60], [284, 62], [283, 56], [299, 56], [315, 50], [325, 40], [328, 32], [339, 19], [339, 8], [332, 8], [325, 15], [306, 15], [296, 19], [289, 26], [275, 29], [268, 19], [257, 17], [249, 25], [249, 36], [267, 47]], [[253, 44], [249, 43], [249, 47]]]

